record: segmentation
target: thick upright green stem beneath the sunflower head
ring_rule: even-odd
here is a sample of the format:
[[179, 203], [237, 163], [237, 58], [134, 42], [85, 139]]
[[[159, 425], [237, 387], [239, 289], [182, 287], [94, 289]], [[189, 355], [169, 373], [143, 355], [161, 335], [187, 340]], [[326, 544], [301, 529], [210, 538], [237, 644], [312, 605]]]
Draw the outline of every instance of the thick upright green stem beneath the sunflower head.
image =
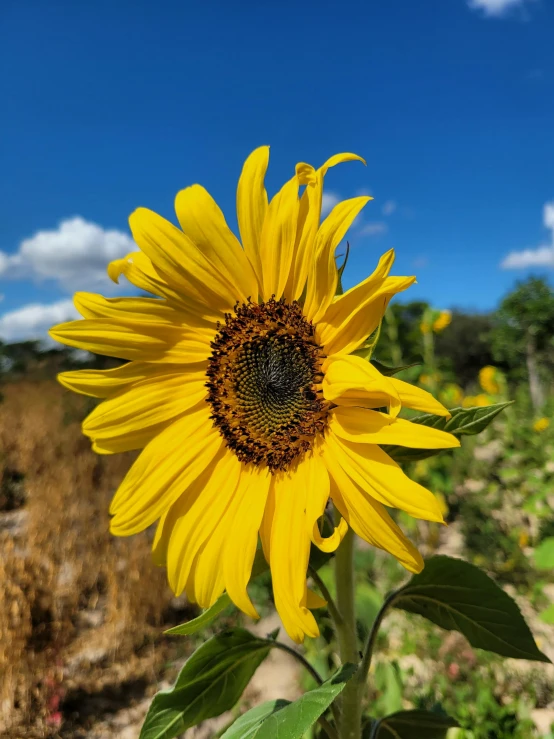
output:
[[[341, 662], [357, 664], [359, 661], [354, 610], [354, 534], [352, 529], [341, 542], [335, 555], [335, 583], [337, 607], [341, 616], [336, 624]], [[353, 677], [341, 694], [340, 739], [361, 739], [362, 736], [362, 684]]]

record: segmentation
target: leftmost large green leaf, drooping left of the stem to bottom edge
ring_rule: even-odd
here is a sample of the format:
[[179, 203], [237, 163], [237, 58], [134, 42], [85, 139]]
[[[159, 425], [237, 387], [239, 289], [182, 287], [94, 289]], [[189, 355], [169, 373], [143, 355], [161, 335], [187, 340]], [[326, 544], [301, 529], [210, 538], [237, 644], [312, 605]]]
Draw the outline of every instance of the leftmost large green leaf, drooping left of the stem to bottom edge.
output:
[[271, 642], [244, 629], [212, 637], [189, 658], [175, 685], [154, 696], [140, 739], [174, 739], [238, 701]]

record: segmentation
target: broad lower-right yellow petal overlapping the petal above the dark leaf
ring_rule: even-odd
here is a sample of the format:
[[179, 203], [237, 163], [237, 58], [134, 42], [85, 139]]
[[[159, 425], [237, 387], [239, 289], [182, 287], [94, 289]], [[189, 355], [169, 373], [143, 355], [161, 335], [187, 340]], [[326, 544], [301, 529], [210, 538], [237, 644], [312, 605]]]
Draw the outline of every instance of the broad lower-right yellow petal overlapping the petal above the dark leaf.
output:
[[368, 495], [389, 508], [399, 508], [414, 518], [443, 521], [439, 502], [422, 485], [410, 480], [388, 454], [373, 444], [356, 444], [326, 437], [325, 464], [334, 476], [338, 467]]

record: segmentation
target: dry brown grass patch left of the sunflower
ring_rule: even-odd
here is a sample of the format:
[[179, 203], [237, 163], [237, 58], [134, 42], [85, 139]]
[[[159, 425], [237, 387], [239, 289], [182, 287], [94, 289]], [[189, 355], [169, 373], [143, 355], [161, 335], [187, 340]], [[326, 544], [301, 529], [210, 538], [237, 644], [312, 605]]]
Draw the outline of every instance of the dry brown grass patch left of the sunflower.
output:
[[172, 595], [147, 535], [108, 532], [131, 455], [90, 451], [90, 401], [54, 381], [2, 392], [0, 735], [67, 736], [84, 696], [155, 679]]

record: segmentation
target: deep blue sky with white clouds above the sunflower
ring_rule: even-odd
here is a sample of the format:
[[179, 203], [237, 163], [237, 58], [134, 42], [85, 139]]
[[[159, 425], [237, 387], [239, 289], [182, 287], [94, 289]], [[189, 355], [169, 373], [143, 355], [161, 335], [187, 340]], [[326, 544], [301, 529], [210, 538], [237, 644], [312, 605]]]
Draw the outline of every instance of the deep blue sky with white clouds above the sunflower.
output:
[[487, 310], [554, 273], [553, 0], [7, 0], [1, 14], [0, 338], [42, 335], [75, 289], [104, 290], [137, 206], [173, 218], [200, 182], [234, 227], [261, 144], [270, 194], [297, 161], [367, 159], [326, 180], [329, 204], [375, 198], [349, 235], [349, 284], [392, 246], [395, 273], [418, 276], [409, 296], [440, 308]]

